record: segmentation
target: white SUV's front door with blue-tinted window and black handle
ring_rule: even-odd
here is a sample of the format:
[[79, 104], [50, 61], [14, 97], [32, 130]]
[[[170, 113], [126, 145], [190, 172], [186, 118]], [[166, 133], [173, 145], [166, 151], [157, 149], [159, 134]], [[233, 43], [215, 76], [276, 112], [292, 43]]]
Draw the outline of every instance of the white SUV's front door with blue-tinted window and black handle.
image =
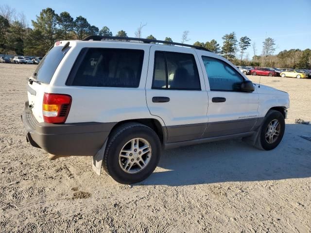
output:
[[246, 80], [223, 58], [201, 51], [208, 93], [208, 124], [204, 137], [251, 131], [258, 120], [259, 95], [240, 91]]

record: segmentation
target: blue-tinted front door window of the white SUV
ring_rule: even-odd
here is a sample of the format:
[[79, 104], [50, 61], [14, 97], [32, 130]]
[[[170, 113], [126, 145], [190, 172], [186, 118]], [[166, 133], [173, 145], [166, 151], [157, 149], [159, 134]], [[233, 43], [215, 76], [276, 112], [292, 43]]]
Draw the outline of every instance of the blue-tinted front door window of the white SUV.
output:
[[242, 75], [224, 61], [202, 56], [211, 91], [239, 91]]

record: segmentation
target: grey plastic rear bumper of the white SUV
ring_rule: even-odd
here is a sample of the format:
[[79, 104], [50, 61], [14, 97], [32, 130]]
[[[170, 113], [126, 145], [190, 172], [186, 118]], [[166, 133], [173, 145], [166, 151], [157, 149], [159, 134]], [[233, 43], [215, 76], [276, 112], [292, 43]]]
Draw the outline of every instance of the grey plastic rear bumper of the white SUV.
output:
[[28, 101], [21, 115], [27, 140], [37, 148], [57, 156], [94, 156], [104, 144], [116, 123], [67, 123], [37, 122]]

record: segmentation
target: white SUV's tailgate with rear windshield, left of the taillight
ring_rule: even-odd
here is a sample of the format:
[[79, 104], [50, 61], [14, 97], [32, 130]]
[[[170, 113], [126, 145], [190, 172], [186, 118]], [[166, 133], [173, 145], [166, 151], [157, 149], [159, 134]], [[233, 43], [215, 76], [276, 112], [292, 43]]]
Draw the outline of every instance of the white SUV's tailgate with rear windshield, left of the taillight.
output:
[[44, 91], [49, 86], [56, 68], [70, 49], [68, 47], [66, 50], [62, 50], [63, 48], [63, 46], [53, 47], [39, 63], [28, 82], [28, 101], [38, 122], [43, 122], [42, 101]]

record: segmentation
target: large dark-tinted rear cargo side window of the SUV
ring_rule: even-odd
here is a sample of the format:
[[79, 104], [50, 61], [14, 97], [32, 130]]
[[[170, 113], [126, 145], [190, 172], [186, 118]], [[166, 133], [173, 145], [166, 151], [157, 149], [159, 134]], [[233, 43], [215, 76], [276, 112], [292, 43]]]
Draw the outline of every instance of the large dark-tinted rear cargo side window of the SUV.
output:
[[82, 58], [75, 62], [67, 85], [139, 86], [143, 50], [85, 48], [80, 55]]

